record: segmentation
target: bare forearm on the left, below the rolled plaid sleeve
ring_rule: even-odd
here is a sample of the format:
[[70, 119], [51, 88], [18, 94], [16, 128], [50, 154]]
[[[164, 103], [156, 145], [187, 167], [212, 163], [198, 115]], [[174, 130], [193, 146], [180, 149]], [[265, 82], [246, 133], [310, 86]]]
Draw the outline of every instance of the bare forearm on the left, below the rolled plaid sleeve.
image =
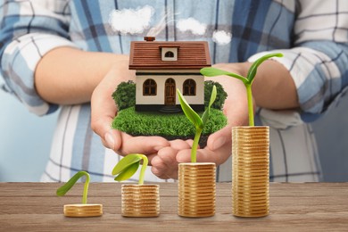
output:
[[[72, 47], [58, 47], [37, 64], [37, 93], [54, 104], [82, 104], [91, 99], [95, 87], [112, 66], [123, 67], [127, 55], [92, 53]], [[124, 77], [127, 79], [128, 77]], [[120, 80], [121, 82], [122, 80]], [[115, 87], [118, 83], [115, 83]]]

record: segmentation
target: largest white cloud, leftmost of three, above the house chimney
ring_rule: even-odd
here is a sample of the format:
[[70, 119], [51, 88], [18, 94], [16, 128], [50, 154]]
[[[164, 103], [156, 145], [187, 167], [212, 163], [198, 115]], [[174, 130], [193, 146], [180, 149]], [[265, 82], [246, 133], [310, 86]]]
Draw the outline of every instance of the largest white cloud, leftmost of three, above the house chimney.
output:
[[140, 34], [150, 27], [154, 9], [145, 5], [142, 8], [114, 10], [109, 23], [114, 31], [122, 34]]

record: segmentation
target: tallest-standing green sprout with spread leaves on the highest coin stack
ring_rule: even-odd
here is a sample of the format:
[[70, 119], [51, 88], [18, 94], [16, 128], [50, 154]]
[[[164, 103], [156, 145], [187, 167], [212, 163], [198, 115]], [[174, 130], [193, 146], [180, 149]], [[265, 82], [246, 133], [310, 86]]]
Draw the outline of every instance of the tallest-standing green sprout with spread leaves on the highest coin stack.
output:
[[219, 70], [215, 68], [203, 68], [201, 70], [201, 74], [205, 77], [215, 77], [215, 76], [221, 76], [221, 75], [227, 75], [229, 77], [233, 77], [236, 79], [240, 79], [243, 81], [244, 86], [246, 87], [246, 94], [247, 94], [247, 101], [248, 101], [248, 112], [249, 112], [249, 126], [253, 127], [254, 120], [253, 120], [253, 93], [252, 93], [252, 84], [253, 84], [253, 79], [255, 78], [257, 68], [259, 65], [269, 59], [270, 57], [273, 56], [278, 56], [282, 57], [283, 54], [266, 54], [263, 55], [261, 58], [253, 62], [252, 66], [250, 67], [246, 78], [244, 78], [241, 75], [238, 75], [233, 72], [228, 72], [226, 70]]

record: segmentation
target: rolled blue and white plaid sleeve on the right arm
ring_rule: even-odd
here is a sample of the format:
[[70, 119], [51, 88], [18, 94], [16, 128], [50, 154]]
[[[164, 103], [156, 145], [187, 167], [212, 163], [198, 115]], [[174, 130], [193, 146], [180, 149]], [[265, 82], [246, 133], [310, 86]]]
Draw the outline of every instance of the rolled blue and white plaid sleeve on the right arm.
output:
[[[348, 85], [348, 4], [346, 0], [298, 3], [294, 48], [268, 53], [284, 54], [275, 60], [290, 71], [303, 114], [313, 116], [325, 112]], [[316, 118], [311, 116], [307, 120]]]

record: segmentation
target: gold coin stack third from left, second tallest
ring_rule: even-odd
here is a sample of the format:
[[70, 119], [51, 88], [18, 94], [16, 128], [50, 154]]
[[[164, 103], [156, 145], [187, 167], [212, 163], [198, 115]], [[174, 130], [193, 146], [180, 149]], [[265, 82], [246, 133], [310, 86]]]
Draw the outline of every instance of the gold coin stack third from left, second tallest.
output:
[[178, 215], [211, 217], [215, 214], [215, 170], [213, 162], [178, 164]]

